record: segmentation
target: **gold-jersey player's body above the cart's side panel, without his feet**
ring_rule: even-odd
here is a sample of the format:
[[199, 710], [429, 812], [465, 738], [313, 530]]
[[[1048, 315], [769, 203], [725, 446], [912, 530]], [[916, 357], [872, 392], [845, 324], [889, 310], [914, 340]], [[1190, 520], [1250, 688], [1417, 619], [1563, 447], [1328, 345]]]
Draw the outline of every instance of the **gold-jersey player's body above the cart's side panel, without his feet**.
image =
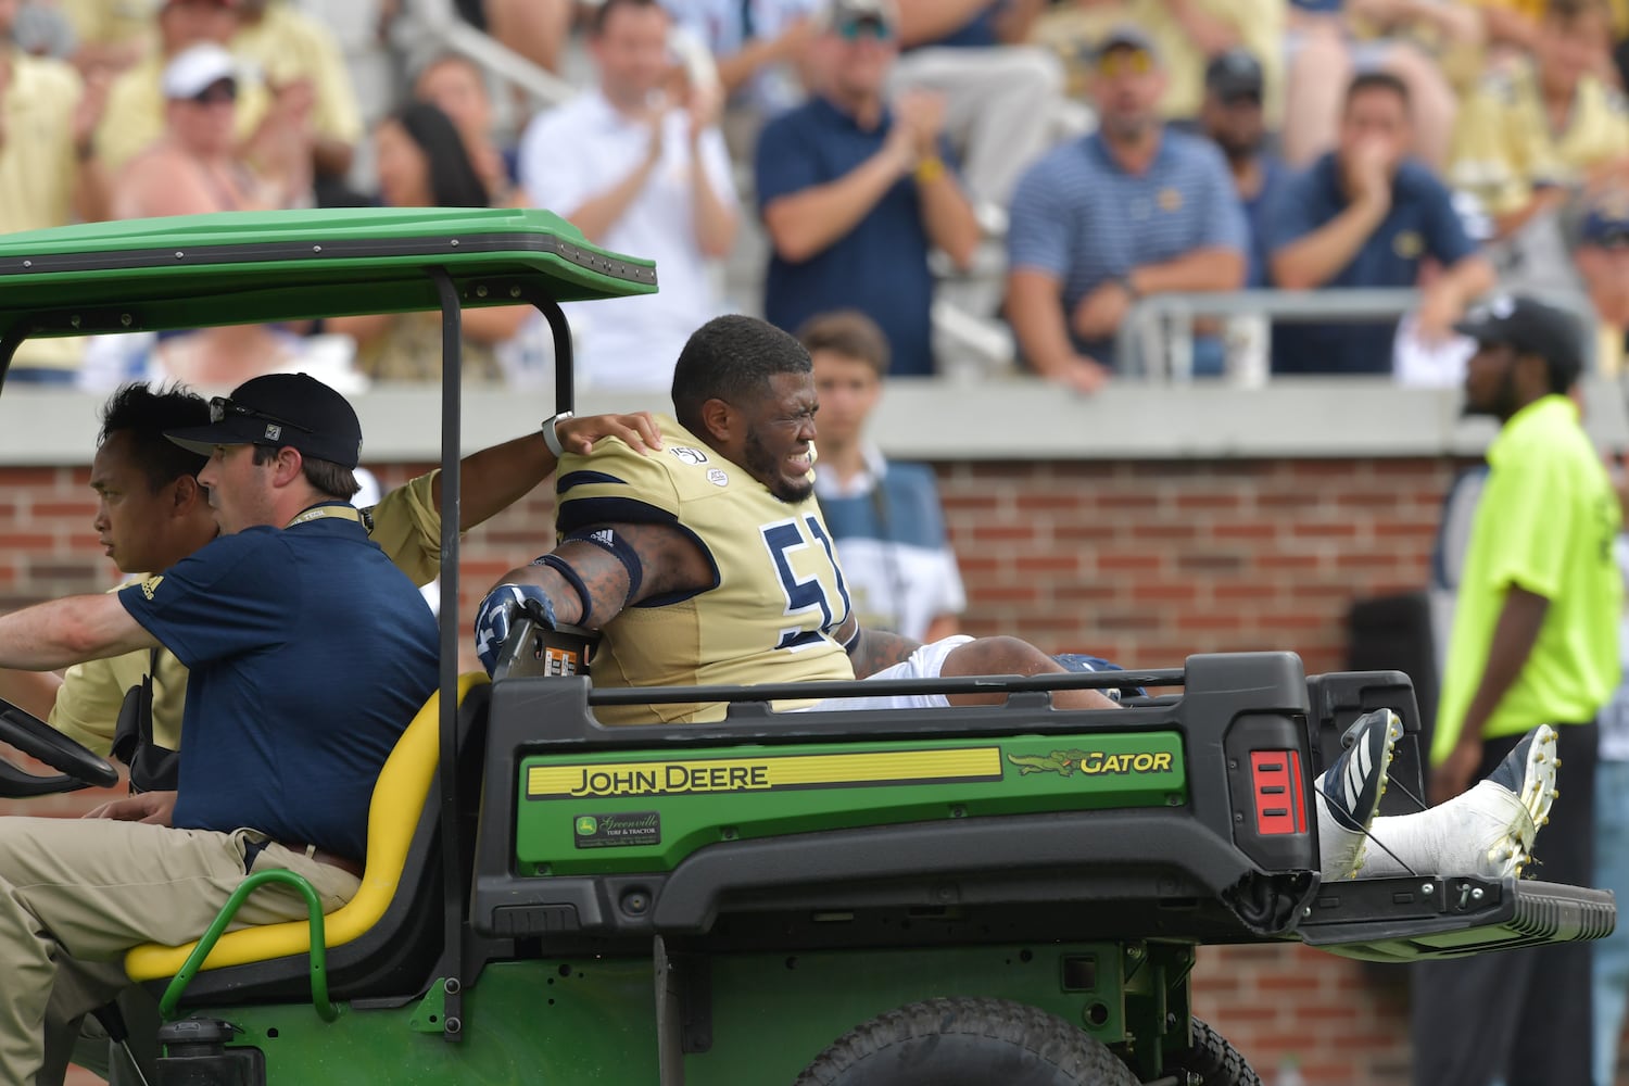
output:
[[[658, 417], [660, 454], [608, 441], [564, 458], [560, 544], [507, 573], [476, 619], [489, 671], [521, 607], [601, 630], [595, 681], [606, 687], [1064, 671], [1016, 638], [919, 645], [860, 628], [814, 501], [814, 378], [795, 339], [754, 317], [709, 321], [679, 353], [673, 405], [676, 417]], [[842, 698], [832, 708], [1005, 697]], [[1095, 690], [1059, 690], [1054, 702], [1114, 705]], [[608, 723], [722, 715], [720, 703], [599, 712]]]

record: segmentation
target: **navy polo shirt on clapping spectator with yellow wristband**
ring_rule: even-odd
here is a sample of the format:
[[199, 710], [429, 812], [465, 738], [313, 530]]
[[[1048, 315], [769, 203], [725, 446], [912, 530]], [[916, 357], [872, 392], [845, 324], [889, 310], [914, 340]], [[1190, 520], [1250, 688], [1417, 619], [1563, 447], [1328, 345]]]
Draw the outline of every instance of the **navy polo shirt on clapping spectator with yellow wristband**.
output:
[[[757, 138], [757, 205], [837, 181], [875, 155], [893, 117], [867, 132], [824, 98], [771, 120]], [[797, 332], [814, 314], [858, 309], [888, 335], [891, 376], [933, 373], [929, 313], [933, 277], [922, 199], [907, 174], [855, 223], [854, 230], [808, 261], [769, 257], [764, 317]]]

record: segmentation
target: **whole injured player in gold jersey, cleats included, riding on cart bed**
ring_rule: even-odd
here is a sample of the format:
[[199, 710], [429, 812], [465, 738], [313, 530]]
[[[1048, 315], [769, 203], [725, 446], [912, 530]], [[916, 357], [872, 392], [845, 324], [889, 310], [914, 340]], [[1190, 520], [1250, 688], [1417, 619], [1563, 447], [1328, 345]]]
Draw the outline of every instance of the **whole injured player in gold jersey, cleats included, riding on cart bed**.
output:
[[[569, 454], [555, 479], [559, 545], [510, 570], [482, 601], [476, 648], [490, 671], [516, 614], [596, 628], [603, 687], [937, 679], [1052, 674], [1064, 668], [1016, 638], [932, 645], [860, 628], [813, 497], [814, 394], [808, 352], [744, 316], [704, 324], [679, 353], [674, 415], [661, 453], [617, 440]], [[777, 702], [930, 708], [1005, 694], [922, 694]], [[1113, 707], [1093, 690], [1054, 690], [1059, 708]], [[598, 707], [604, 723], [705, 721], [722, 703]], [[1375, 819], [1396, 715], [1377, 712], [1318, 782], [1326, 878], [1401, 869], [1512, 873], [1526, 861], [1554, 795], [1554, 734], [1538, 729], [1507, 765], [1458, 801]]]

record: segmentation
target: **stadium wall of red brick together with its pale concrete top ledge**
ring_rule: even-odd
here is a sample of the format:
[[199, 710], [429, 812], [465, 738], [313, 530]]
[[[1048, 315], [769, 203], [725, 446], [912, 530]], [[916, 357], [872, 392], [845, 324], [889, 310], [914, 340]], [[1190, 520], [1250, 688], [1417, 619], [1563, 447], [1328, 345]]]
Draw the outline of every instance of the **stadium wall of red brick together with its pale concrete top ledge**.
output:
[[[0, 401], [0, 609], [111, 583], [90, 528], [94, 401], [15, 402], [26, 399]], [[1621, 404], [1600, 402], [1596, 436], [1624, 444]], [[386, 487], [433, 458], [433, 402], [378, 394], [360, 404], [368, 451], [384, 458], [370, 466]], [[1308, 672], [1341, 669], [1347, 607], [1425, 583], [1447, 485], [1491, 433], [1455, 425], [1453, 394], [1368, 384], [1339, 396], [1212, 389], [1209, 399], [1116, 389], [1091, 402], [1030, 386], [924, 386], [894, 391], [888, 410], [885, 448], [938, 471], [968, 630], [1134, 666], [1272, 648], [1298, 651]], [[466, 446], [546, 414], [476, 402]], [[28, 466], [46, 458], [57, 466]], [[547, 549], [551, 515], [544, 488], [469, 536], [463, 615], [507, 568]], [[94, 801], [10, 809], [75, 814]], [[1396, 972], [1305, 948], [1215, 948], [1201, 956], [1196, 993], [1199, 1014], [1267, 1081], [1293, 1053], [1311, 1084], [1407, 1083]]]

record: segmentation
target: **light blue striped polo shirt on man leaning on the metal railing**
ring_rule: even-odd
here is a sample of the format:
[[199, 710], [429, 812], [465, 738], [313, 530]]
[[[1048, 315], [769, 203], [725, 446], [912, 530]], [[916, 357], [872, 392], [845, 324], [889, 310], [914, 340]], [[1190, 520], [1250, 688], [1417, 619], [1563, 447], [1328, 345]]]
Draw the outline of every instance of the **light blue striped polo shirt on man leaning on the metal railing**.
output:
[[[1064, 313], [1104, 280], [1194, 249], [1245, 252], [1249, 226], [1222, 151], [1166, 129], [1140, 174], [1129, 174], [1098, 135], [1047, 151], [1018, 181], [1008, 212], [1007, 264], [1056, 278]], [[1114, 365], [1114, 340], [1075, 350]]]

